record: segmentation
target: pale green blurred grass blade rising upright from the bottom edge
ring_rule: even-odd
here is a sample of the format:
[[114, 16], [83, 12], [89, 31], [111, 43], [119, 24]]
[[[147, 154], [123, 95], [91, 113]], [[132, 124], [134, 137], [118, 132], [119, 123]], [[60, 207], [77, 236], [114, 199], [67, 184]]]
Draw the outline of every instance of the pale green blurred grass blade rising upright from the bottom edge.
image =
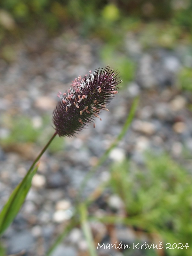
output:
[[79, 212], [80, 212], [81, 227], [82, 227], [85, 239], [87, 241], [90, 256], [97, 256], [91, 228], [88, 223], [88, 212], [87, 212], [86, 204], [79, 205]]

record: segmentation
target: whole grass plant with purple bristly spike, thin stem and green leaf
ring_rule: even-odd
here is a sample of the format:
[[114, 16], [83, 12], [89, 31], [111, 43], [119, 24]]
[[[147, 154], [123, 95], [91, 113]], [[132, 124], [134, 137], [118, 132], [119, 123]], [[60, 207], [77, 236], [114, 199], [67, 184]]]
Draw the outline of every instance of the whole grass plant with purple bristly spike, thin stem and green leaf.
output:
[[110, 67], [99, 68], [89, 72], [89, 76], [76, 78], [70, 89], [59, 93], [60, 101], [53, 111], [55, 132], [31, 164], [25, 177], [12, 191], [9, 199], [0, 212], [0, 236], [12, 223], [19, 212], [25, 197], [31, 187], [31, 181], [36, 174], [39, 160], [54, 138], [59, 136], [72, 136], [80, 131], [87, 123], [99, 117], [100, 111], [106, 109], [106, 104], [117, 93], [117, 85], [121, 82], [116, 70]]

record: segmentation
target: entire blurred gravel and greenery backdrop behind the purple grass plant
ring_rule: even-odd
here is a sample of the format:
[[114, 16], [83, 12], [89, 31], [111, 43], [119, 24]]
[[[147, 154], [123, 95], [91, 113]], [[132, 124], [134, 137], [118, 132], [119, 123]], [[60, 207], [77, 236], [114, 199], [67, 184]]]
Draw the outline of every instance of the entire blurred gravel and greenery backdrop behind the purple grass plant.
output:
[[[191, 0], [0, 2], [0, 207], [54, 133], [57, 93], [106, 65], [123, 80], [109, 112], [55, 138], [0, 255], [192, 255]], [[130, 249], [96, 249], [116, 242]]]

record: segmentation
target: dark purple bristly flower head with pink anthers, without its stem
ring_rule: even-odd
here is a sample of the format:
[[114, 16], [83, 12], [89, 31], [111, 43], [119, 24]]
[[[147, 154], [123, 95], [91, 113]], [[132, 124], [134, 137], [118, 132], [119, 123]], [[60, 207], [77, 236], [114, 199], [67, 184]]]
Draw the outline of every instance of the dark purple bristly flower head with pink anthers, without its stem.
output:
[[[59, 92], [53, 111], [53, 123], [59, 136], [72, 136], [106, 109], [117, 85], [121, 83], [118, 73], [110, 67], [89, 72], [89, 76], [78, 76], [67, 92]], [[106, 109], [107, 110], [107, 109]]]

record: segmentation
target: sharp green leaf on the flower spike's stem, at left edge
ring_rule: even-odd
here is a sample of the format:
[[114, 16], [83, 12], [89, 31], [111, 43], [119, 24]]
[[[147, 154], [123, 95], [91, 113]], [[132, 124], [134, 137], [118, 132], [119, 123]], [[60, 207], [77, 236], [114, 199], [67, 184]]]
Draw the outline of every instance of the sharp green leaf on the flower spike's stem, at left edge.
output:
[[29, 189], [31, 188], [31, 181], [35, 173], [37, 172], [38, 166], [33, 169], [32, 172], [26, 174], [20, 184], [13, 190], [7, 203], [4, 205], [0, 213], [0, 235], [9, 227], [17, 213], [19, 212]]

